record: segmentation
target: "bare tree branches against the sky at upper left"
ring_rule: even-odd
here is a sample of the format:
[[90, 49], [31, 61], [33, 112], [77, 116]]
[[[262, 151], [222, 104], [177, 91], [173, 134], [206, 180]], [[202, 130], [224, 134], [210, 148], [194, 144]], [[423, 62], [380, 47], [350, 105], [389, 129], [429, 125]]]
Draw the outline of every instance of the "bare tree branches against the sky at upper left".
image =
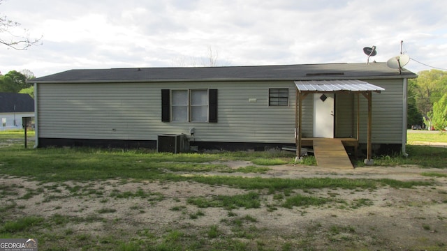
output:
[[[0, 5], [3, 0], [0, 0]], [[0, 44], [15, 50], [27, 50], [31, 45], [39, 43], [41, 38], [29, 38], [27, 29], [22, 34], [17, 34], [20, 23], [8, 20], [5, 15], [0, 14]]]

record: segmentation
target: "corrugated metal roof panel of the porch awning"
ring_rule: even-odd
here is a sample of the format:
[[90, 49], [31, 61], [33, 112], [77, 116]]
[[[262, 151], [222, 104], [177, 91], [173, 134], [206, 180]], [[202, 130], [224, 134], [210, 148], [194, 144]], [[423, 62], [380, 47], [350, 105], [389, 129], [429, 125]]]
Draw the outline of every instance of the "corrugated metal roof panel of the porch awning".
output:
[[375, 91], [380, 93], [385, 89], [357, 79], [351, 80], [305, 80], [295, 81], [298, 91], [337, 92], [337, 91]]

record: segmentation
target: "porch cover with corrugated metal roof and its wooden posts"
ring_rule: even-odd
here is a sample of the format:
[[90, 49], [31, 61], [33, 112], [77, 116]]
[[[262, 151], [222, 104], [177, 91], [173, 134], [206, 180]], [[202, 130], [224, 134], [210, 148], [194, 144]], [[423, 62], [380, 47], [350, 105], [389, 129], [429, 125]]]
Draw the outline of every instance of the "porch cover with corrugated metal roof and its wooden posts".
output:
[[[295, 81], [297, 88], [295, 102], [295, 142], [297, 145], [297, 158], [301, 155], [302, 139], [302, 100], [309, 93], [340, 93], [352, 92], [357, 96], [362, 94], [367, 99], [368, 120], [367, 120], [367, 160], [372, 161], [372, 92], [380, 93], [384, 91], [380, 86], [360, 81], [358, 79], [346, 80], [300, 80]], [[360, 137], [360, 100], [357, 98], [357, 137]]]

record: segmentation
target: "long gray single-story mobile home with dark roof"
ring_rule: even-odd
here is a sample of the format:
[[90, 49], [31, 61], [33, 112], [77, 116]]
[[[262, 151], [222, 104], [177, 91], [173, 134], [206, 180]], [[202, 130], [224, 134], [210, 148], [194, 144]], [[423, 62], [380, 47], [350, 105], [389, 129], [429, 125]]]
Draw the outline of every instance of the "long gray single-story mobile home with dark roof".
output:
[[36, 146], [263, 150], [323, 137], [404, 153], [414, 77], [376, 62], [68, 70], [32, 80]]

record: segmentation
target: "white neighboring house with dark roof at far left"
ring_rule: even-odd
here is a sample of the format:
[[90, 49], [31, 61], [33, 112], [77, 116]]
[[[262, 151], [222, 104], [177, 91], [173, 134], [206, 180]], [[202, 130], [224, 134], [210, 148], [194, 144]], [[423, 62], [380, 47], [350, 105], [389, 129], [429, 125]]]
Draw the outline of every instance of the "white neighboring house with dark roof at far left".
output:
[[22, 129], [22, 118], [34, 117], [34, 100], [24, 93], [0, 93], [0, 130]]

